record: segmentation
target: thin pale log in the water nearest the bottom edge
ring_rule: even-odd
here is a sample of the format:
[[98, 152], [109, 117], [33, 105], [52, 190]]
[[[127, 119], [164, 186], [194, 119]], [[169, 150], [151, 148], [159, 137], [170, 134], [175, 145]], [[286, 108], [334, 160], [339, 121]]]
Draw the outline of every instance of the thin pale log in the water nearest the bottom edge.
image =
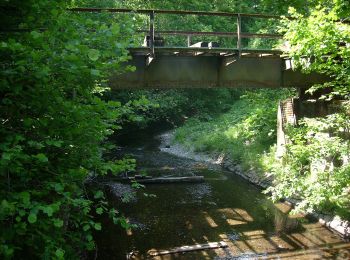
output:
[[175, 247], [175, 248], [172, 248], [169, 250], [160, 250], [160, 251], [149, 250], [148, 255], [153, 257], [153, 256], [185, 253], [185, 252], [198, 251], [198, 250], [225, 248], [227, 246], [228, 245], [224, 241], [220, 241], [220, 242], [212, 242], [212, 243], [208, 243], [208, 244], [198, 244], [198, 245], [192, 245], [192, 246]]

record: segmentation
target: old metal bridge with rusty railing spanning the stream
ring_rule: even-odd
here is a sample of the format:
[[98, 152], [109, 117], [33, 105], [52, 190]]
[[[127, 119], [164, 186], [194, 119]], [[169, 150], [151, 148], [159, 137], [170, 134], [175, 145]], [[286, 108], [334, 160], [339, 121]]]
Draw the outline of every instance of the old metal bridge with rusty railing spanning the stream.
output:
[[[114, 12], [144, 14], [149, 17], [148, 28], [139, 30], [145, 41], [143, 46], [129, 48], [131, 60], [124, 65], [136, 68], [134, 72], [115, 75], [110, 79], [112, 89], [134, 88], [196, 88], [196, 87], [250, 87], [308, 88], [327, 81], [324, 75], [303, 74], [293, 69], [293, 62], [280, 50], [243, 48], [244, 38], [282, 38], [279, 34], [242, 32], [242, 18], [281, 19], [265, 14], [228, 12], [132, 10], [115, 8], [73, 8], [74, 12]], [[157, 14], [198, 15], [235, 18], [235, 32], [161, 31], [155, 29]], [[292, 19], [292, 18], [289, 18]], [[166, 46], [163, 36], [184, 36], [186, 46]], [[217, 42], [197, 42], [191, 37], [216, 36], [236, 38], [236, 46], [220, 47]]]

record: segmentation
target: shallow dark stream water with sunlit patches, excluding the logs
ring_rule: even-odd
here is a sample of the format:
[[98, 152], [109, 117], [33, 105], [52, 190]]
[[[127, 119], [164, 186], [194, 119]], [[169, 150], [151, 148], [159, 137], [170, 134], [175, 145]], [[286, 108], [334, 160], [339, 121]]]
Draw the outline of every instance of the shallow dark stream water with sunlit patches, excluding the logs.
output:
[[241, 177], [163, 153], [159, 140], [143, 138], [122, 149], [138, 160], [138, 170], [152, 176], [203, 175], [205, 182], [149, 184], [124, 204], [118, 192], [130, 191], [130, 185], [110, 181], [111, 202], [136, 227], [123, 230], [103, 219], [104, 228], [96, 234], [98, 259], [149, 259], [149, 250], [219, 241], [228, 247], [154, 259], [350, 258], [349, 243], [315, 221], [287, 215], [288, 205], [271, 203]]

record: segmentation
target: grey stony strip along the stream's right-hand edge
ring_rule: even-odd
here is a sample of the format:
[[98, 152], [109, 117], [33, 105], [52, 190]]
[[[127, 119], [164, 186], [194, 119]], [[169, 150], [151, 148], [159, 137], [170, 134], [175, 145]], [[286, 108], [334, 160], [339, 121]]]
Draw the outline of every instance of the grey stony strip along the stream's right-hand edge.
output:
[[[174, 142], [174, 130], [167, 131], [158, 135], [157, 137], [161, 140], [159, 146], [160, 150], [165, 153], [176, 155], [182, 158], [192, 159], [198, 162], [207, 163], [216, 167], [220, 166], [223, 169], [241, 176], [248, 180], [254, 185], [266, 189], [273, 184], [273, 176], [269, 173], [263, 175], [257, 174], [254, 169], [243, 171], [242, 167], [236, 162], [230, 160], [225, 154], [215, 153], [199, 153], [186, 148], [185, 146]], [[296, 201], [289, 199], [286, 203], [294, 205]], [[342, 220], [339, 216], [332, 216], [329, 214], [314, 212], [310, 215], [313, 218], [318, 219], [318, 222], [326, 226], [333, 232], [337, 233], [344, 239], [350, 239], [350, 222]]]

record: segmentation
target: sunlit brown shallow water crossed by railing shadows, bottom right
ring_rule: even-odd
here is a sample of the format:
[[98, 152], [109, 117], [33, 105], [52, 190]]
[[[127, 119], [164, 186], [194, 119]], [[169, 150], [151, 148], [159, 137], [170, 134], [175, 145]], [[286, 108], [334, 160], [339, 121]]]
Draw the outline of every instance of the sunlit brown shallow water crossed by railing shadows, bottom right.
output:
[[[281, 214], [290, 212], [291, 208], [289, 205], [284, 203], [277, 203], [276, 210]], [[217, 214], [219, 213], [219, 214]], [[227, 233], [218, 232], [216, 241], [224, 241], [227, 243], [227, 249], [215, 249], [208, 251], [201, 251], [200, 253], [187, 253], [187, 257], [195, 257], [201, 255], [201, 259], [212, 259], [213, 256], [217, 257], [264, 257], [266, 259], [310, 259], [311, 258], [323, 258], [332, 256], [328, 249], [341, 248], [345, 253], [348, 253], [349, 244], [339, 242], [339, 238], [333, 233], [327, 230], [319, 223], [306, 223], [302, 224], [303, 230], [305, 231], [294, 231], [291, 233], [283, 233], [281, 231], [266, 232], [262, 229], [246, 229], [244, 225], [248, 222], [253, 222], [254, 219], [250, 214], [240, 208], [220, 208], [216, 212], [203, 212], [207, 225], [211, 228], [219, 230], [227, 230], [227, 226], [241, 225], [242, 232], [238, 229], [236, 239], [229, 236]], [[224, 218], [223, 218], [224, 216]], [[301, 215], [285, 216], [282, 224], [286, 225], [290, 221], [295, 223], [297, 218], [302, 217]], [[280, 217], [281, 218], [281, 217]], [[223, 222], [222, 220], [225, 220]], [[188, 225], [188, 222], [186, 222]], [[281, 224], [277, 223], [277, 225]], [[276, 223], [275, 223], [276, 224]], [[297, 226], [294, 226], [297, 228]], [[288, 230], [288, 228], [287, 228]], [[289, 231], [288, 231], [289, 232]], [[316, 232], [317, 234], [314, 234]], [[322, 236], [324, 239], [321, 239]], [[192, 239], [193, 243], [198, 242], [210, 242], [213, 241], [212, 237], [203, 235], [199, 240]], [[341, 244], [344, 244], [341, 246]], [[317, 248], [317, 249], [316, 249]], [[328, 251], [327, 251], [328, 250]], [[345, 254], [344, 253], [344, 254]], [[334, 253], [333, 253], [334, 254]]]

